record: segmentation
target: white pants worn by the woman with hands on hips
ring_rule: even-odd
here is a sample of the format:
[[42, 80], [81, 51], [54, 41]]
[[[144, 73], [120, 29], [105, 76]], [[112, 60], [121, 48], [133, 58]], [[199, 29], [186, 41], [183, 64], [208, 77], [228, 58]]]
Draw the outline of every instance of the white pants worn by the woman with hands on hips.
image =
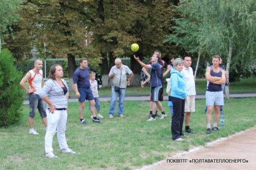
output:
[[67, 124], [67, 110], [57, 111], [55, 110], [53, 113], [49, 113], [49, 110], [46, 109], [47, 114], [47, 131], [45, 140], [45, 149], [46, 153], [52, 152], [52, 140], [53, 136], [56, 133], [57, 129], [57, 138], [59, 141], [59, 146], [61, 150], [65, 150], [68, 148], [66, 136], [65, 136], [65, 129]]

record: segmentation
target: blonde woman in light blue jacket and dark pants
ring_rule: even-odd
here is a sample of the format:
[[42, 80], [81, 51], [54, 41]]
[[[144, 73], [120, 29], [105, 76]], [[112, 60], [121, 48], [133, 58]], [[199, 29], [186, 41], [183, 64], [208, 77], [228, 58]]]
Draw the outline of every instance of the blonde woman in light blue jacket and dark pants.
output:
[[174, 115], [172, 117], [171, 132], [174, 141], [182, 141], [182, 126], [184, 120], [185, 97], [188, 96], [186, 83], [181, 74], [183, 69], [183, 60], [176, 58], [174, 61], [174, 69], [171, 70], [171, 96], [169, 101], [172, 101]]

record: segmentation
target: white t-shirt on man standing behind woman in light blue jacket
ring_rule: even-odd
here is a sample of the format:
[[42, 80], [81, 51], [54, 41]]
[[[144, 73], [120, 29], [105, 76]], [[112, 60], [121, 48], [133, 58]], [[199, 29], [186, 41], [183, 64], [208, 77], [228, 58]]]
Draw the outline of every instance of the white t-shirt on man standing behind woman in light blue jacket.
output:
[[188, 95], [189, 96], [196, 95], [196, 84], [195, 84], [192, 68], [191, 67], [186, 68], [183, 66], [181, 73], [183, 74], [183, 78], [185, 79], [185, 82], [186, 82]]

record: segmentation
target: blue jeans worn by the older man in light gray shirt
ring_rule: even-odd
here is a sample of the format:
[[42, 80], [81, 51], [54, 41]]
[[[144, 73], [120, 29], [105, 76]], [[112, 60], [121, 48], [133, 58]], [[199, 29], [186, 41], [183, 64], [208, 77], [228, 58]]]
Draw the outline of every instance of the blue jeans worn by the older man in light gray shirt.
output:
[[117, 114], [123, 114], [123, 102], [125, 100], [126, 88], [121, 88], [119, 92], [114, 91], [114, 86], [111, 88], [111, 100], [109, 106], [109, 114], [114, 115], [115, 113], [115, 103], [117, 102], [117, 97], [119, 97], [118, 111]]

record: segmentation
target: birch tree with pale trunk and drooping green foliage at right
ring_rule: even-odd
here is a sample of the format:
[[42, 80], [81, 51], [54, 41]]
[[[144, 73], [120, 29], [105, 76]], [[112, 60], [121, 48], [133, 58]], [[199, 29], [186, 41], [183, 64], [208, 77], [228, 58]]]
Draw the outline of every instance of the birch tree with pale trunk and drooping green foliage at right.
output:
[[[253, 71], [256, 47], [254, 1], [185, 0], [180, 1], [178, 8], [183, 18], [176, 20], [175, 35], [167, 36], [167, 41], [182, 44], [190, 52], [203, 53], [208, 59], [213, 54], [220, 54], [226, 58], [227, 79], [230, 63], [233, 68], [241, 64], [240, 73]], [[229, 87], [226, 88], [228, 94]]]

